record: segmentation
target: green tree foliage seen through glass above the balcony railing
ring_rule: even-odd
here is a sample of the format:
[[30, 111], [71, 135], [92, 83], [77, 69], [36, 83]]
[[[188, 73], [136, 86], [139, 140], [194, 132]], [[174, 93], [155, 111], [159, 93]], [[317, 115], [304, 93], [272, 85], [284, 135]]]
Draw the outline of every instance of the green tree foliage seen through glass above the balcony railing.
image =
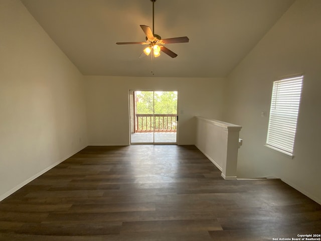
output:
[[176, 114], [177, 91], [137, 91], [137, 114]]

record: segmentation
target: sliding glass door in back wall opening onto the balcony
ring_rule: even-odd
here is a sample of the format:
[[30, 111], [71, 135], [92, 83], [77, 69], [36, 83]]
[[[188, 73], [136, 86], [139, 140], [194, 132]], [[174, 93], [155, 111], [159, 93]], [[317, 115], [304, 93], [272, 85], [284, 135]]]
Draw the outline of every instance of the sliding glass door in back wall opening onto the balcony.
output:
[[131, 144], [177, 143], [177, 91], [130, 91]]

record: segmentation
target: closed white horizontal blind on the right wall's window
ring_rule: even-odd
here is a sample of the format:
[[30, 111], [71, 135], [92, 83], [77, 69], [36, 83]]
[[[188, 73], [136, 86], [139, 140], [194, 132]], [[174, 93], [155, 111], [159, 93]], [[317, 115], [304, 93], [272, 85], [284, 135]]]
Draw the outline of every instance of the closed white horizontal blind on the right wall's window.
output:
[[292, 156], [303, 76], [273, 82], [266, 146]]

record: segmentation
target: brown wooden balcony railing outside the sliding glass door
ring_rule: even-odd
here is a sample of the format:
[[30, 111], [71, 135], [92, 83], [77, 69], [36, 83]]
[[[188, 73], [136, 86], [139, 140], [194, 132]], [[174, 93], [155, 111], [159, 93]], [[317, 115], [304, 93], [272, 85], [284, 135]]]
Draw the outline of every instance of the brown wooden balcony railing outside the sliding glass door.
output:
[[136, 114], [136, 132], [176, 132], [177, 114]]

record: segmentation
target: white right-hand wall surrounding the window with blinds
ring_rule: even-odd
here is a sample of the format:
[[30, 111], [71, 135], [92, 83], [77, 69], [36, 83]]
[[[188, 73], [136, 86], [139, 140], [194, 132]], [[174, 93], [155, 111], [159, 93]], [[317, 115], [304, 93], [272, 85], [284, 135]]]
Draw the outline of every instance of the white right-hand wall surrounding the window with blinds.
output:
[[[243, 126], [238, 177], [276, 176], [321, 203], [321, 1], [296, 1], [228, 76], [224, 120]], [[263, 145], [272, 82], [303, 73], [294, 158]], [[261, 111], [266, 116], [261, 117]]]

